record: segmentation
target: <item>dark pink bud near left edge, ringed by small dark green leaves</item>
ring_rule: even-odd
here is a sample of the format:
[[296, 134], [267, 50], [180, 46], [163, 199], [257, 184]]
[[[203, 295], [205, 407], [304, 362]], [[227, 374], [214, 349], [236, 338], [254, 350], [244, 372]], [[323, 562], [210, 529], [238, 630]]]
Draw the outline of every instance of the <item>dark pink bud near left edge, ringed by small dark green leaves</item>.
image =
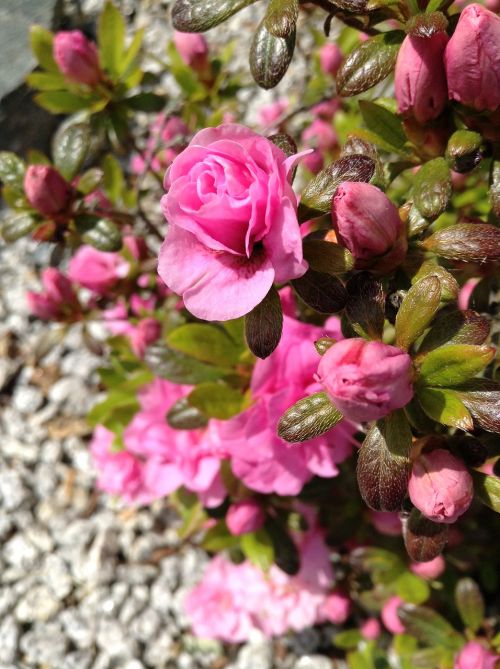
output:
[[50, 165], [30, 165], [24, 176], [24, 192], [33, 209], [55, 216], [67, 208], [73, 190]]

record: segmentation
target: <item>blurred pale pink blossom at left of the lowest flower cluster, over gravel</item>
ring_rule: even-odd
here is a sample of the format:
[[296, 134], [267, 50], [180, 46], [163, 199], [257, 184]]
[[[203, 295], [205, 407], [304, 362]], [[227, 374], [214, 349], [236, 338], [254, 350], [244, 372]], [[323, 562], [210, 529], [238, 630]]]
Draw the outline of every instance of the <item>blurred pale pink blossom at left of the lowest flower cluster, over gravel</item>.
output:
[[196, 636], [239, 643], [257, 629], [255, 612], [266, 595], [260, 570], [249, 562], [232, 564], [219, 555], [186, 597], [184, 608]]

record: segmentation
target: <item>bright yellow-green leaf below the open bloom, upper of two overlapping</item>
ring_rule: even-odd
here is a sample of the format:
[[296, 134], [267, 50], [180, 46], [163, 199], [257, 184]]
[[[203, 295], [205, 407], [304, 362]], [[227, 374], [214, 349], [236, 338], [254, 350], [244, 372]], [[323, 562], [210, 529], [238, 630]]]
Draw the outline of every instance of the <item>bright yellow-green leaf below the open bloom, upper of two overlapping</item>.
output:
[[167, 335], [170, 348], [212, 365], [230, 367], [239, 360], [239, 350], [226, 332], [216, 325], [187, 323]]

